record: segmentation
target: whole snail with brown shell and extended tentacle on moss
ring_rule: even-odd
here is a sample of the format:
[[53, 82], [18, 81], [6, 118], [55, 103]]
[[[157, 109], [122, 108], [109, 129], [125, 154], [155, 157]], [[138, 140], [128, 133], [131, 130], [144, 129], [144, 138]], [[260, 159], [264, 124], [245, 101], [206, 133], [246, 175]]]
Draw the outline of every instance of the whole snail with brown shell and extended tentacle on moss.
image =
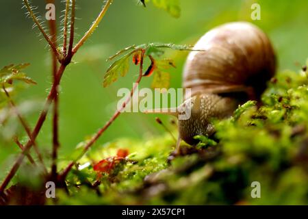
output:
[[190, 118], [179, 120], [177, 150], [181, 140], [196, 144], [194, 136], [212, 136], [212, 118], [231, 116], [250, 99], [259, 101], [275, 70], [274, 49], [259, 27], [234, 22], [208, 31], [196, 42], [183, 70], [183, 88], [191, 88], [192, 97], [176, 112], [161, 112], [177, 116], [190, 110]]

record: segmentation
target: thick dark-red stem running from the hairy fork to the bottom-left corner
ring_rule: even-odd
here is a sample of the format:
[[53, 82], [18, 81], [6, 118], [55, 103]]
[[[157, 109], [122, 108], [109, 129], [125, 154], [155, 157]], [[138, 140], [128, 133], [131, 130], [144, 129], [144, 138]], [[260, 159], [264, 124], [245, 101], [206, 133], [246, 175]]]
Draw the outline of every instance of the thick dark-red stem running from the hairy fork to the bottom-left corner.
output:
[[[44, 104], [44, 109], [40, 113], [40, 116], [39, 116], [38, 121], [36, 123], [36, 127], [34, 127], [34, 131], [32, 131], [32, 134], [31, 134], [32, 140], [36, 140], [36, 137], [38, 136], [38, 133], [39, 133], [40, 129], [42, 128], [44, 120], [46, 119], [47, 113], [49, 111], [49, 107], [50, 107], [53, 99], [55, 98], [55, 95], [57, 94], [56, 89], [57, 89], [57, 86], [60, 82], [60, 79], [63, 75], [65, 68], [66, 68], [66, 65], [62, 64], [60, 66], [59, 70], [57, 70], [56, 81], [53, 83], [53, 86], [51, 87], [51, 90], [50, 90], [50, 92], [47, 96], [47, 99], [45, 101], [45, 104]], [[27, 144], [25, 144], [22, 153], [17, 157], [17, 159], [14, 162], [14, 165], [12, 166], [10, 172], [8, 173], [8, 175], [5, 177], [4, 181], [2, 182], [2, 184], [0, 186], [0, 195], [4, 192], [6, 186], [8, 185], [8, 183], [10, 183], [11, 179], [16, 174], [18, 168], [21, 166], [21, 163], [23, 162], [25, 155], [27, 155], [27, 153], [29, 153], [29, 150], [31, 149], [31, 146], [32, 146], [32, 140], [28, 140]]]

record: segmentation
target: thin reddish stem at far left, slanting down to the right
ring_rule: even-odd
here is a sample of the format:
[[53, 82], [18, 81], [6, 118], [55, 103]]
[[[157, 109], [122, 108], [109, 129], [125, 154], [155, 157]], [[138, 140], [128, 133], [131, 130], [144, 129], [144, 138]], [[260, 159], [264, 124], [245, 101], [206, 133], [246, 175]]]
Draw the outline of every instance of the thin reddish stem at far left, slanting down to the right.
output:
[[8, 97], [8, 101], [12, 107], [12, 110], [14, 111], [14, 113], [16, 114], [16, 116], [18, 117], [19, 121], [21, 122], [21, 125], [23, 125], [23, 128], [25, 129], [27, 136], [29, 137], [29, 140], [31, 141], [31, 143], [34, 146], [34, 150], [36, 151], [36, 154], [38, 155], [38, 160], [40, 161], [40, 164], [42, 164], [42, 167], [44, 168], [44, 172], [47, 173], [47, 168], [44, 165], [44, 161], [42, 159], [42, 155], [40, 154], [40, 151], [38, 150], [38, 146], [35, 142], [35, 140], [31, 137], [31, 129], [29, 128], [29, 125], [27, 125], [27, 122], [25, 121], [25, 119], [23, 118], [23, 116], [21, 116], [21, 113], [19, 112], [19, 110], [17, 109], [14, 101], [11, 99], [10, 94], [8, 93], [8, 91], [5, 89], [5, 87], [3, 86], [2, 89], [5, 92], [5, 95]]

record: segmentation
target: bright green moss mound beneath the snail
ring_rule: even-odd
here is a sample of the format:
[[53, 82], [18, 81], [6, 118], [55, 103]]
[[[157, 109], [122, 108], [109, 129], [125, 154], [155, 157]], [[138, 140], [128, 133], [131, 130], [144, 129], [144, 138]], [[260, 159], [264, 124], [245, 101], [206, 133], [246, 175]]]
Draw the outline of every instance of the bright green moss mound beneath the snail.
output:
[[[233, 117], [214, 121], [217, 144], [199, 136], [202, 144], [194, 153], [170, 164], [175, 146], [170, 136], [101, 146], [81, 164], [113, 156], [120, 148], [129, 149], [129, 159], [137, 163], [119, 164], [96, 189], [89, 186], [97, 180], [92, 166], [74, 170], [67, 181], [70, 195], [58, 191], [58, 203], [307, 205], [307, 75], [277, 75], [262, 101], [261, 107], [248, 101]], [[253, 181], [261, 184], [261, 198], [251, 197]]]

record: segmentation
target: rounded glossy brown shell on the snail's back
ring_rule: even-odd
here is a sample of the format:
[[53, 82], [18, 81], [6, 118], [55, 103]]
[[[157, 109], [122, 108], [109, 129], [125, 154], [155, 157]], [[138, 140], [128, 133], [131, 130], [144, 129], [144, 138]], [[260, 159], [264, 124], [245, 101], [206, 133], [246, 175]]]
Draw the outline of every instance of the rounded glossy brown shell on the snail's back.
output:
[[183, 88], [226, 93], [253, 88], [258, 97], [274, 75], [276, 59], [270, 40], [251, 23], [227, 23], [211, 29], [188, 56]]

